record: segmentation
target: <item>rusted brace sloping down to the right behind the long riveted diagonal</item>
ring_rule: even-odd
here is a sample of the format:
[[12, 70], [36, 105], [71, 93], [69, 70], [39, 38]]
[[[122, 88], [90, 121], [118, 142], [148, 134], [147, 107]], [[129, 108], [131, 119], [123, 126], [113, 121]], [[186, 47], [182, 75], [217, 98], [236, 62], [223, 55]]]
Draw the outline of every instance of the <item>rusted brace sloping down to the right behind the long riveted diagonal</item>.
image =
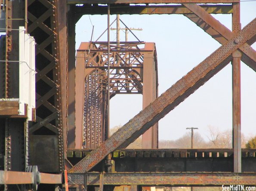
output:
[[[232, 33], [227, 27], [222, 25], [218, 20], [207, 13], [199, 5], [195, 3], [183, 3], [183, 5], [194, 12], [194, 14], [184, 15], [222, 45], [234, 36], [234, 33]], [[256, 51], [250, 47], [250, 45], [253, 44], [255, 40], [256, 36], [251, 39], [249, 44], [245, 43], [239, 49], [243, 53], [241, 60], [256, 72]]]

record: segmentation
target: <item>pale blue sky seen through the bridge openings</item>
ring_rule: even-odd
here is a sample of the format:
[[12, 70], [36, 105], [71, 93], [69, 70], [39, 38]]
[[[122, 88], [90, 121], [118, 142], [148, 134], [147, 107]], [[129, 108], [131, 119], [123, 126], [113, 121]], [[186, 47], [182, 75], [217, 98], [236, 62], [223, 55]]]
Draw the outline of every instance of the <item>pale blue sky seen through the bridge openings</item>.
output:
[[[231, 29], [231, 15], [213, 15]], [[116, 15], [111, 15], [111, 22]], [[241, 2], [241, 24], [244, 27], [256, 17], [256, 2]], [[90, 15], [94, 25], [93, 40], [107, 28], [107, 15]], [[183, 15], [120, 15], [128, 26], [142, 28], [133, 31], [141, 41], [155, 42], [158, 59], [159, 95], [171, 87], [194, 66], [203, 61], [220, 44]], [[122, 26], [122, 25], [121, 25]], [[114, 23], [112, 27], [116, 27]], [[88, 42], [92, 25], [84, 15], [76, 25], [76, 48], [80, 42]], [[116, 31], [111, 31], [115, 41]], [[121, 41], [125, 40], [121, 32]], [[129, 41], [136, 39], [129, 33]], [[106, 34], [100, 41], [107, 41]], [[256, 45], [252, 46], [256, 49]], [[232, 76], [229, 63], [217, 75], [190, 95], [179, 106], [159, 121], [159, 139], [175, 140], [187, 127], [199, 128], [207, 139], [207, 126], [220, 130], [232, 128]], [[241, 63], [242, 133], [256, 135], [256, 73]], [[111, 127], [124, 125], [142, 110], [142, 95], [116, 95], [111, 99]]]

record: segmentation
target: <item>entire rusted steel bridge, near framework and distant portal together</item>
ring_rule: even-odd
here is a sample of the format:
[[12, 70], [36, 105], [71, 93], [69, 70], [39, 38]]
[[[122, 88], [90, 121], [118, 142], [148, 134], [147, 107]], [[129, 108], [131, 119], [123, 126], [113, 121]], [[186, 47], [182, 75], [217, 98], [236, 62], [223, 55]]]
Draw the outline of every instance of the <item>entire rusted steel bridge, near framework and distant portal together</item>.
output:
[[[256, 19], [241, 28], [239, 0], [0, 3], [0, 190], [256, 185], [256, 149], [241, 149], [240, 81], [241, 60], [256, 71]], [[158, 97], [154, 43], [111, 42], [111, 97], [140, 93], [143, 110], [110, 138], [106, 42], [82, 43], [75, 59], [75, 24], [82, 15], [107, 14], [102, 4], [111, 14], [182, 14], [221, 44]], [[231, 14], [232, 31], [211, 14]], [[230, 62], [233, 149], [157, 149], [159, 119]], [[145, 149], [124, 149], [142, 134]]]

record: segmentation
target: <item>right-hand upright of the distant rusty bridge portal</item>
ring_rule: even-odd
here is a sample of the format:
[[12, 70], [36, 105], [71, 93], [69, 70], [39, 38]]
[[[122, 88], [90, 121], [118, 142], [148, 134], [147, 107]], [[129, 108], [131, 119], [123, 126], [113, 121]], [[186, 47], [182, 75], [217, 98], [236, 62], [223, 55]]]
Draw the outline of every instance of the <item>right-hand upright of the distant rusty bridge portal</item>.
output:
[[[154, 43], [146, 43], [145, 50], [154, 50]], [[157, 73], [154, 51], [144, 54], [143, 62], [143, 109], [157, 98]], [[142, 148], [157, 148], [157, 124], [154, 124], [142, 134]]]

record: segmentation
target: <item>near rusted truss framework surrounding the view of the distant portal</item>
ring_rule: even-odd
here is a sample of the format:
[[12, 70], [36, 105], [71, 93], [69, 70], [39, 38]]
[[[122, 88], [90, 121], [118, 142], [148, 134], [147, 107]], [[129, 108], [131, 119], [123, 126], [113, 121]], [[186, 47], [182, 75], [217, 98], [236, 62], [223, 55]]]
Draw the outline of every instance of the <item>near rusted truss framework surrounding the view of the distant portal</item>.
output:
[[[112, 189], [114, 185], [170, 185], [170, 181], [174, 186], [219, 183], [256, 185], [255, 170], [251, 173], [241, 173], [243, 167], [240, 143], [240, 63], [242, 60], [256, 71], [256, 52], [250, 47], [256, 41], [256, 19], [241, 29], [239, 0], [7, 0], [0, 2], [6, 3], [4, 5], [6, 36], [0, 39], [2, 49], [0, 57], [1, 60], [6, 60], [0, 67], [0, 80], [1, 83], [3, 82], [0, 87], [0, 168], [4, 170], [1, 171], [0, 177], [11, 177], [7, 176], [8, 173], [22, 171], [23, 177], [28, 177], [29, 181], [23, 183], [18, 182], [18, 179], [14, 181], [17, 184], [32, 184], [36, 179], [32, 178], [34, 177], [32, 175], [38, 171], [35, 168], [30, 169], [28, 165], [37, 165], [38, 170], [43, 172], [41, 173], [43, 184], [39, 185], [39, 190], [59, 189], [56, 185], [60, 184], [59, 174], [64, 173], [64, 169], [68, 170], [68, 184], [74, 185], [77, 190], [86, 188], [90, 181], [94, 182], [93, 186], [99, 185], [101, 190]], [[75, 6], [77, 3], [84, 6]], [[97, 149], [69, 150], [75, 148], [75, 141], [67, 142], [67, 140], [75, 140], [74, 133], [71, 133], [75, 130], [75, 23], [84, 14], [106, 14], [107, 7], [98, 6], [104, 3], [110, 3], [111, 14], [183, 14], [222, 46], [145, 107]], [[145, 5], [131, 7], [130, 3], [145, 3]], [[148, 3], [156, 5], [151, 6]], [[158, 6], [158, 3], [181, 5]], [[232, 31], [213, 18], [211, 13], [232, 14]], [[19, 32], [13, 30], [18, 29], [19, 26], [24, 26], [37, 43], [36, 107], [34, 109], [36, 117], [30, 122], [26, 113], [19, 114], [20, 103], [12, 100], [19, 98], [19, 83], [17, 83], [19, 69], [12, 62], [19, 60], [19, 39], [17, 39]], [[233, 154], [230, 155], [233, 170], [230, 173], [90, 173], [97, 165], [99, 167], [102, 163], [104, 164], [109, 153], [113, 152], [114, 155], [116, 149], [123, 149], [132, 143], [229, 62], [232, 63], [233, 78], [234, 143], [231, 151]], [[26, 104], [24, 108], [26, 110]], [[86, 154], [84, 158], [71, 164], [68, 161], [70, 158], [68, 155], [76, 152], [77, 155], [80, 153], [82, 155], [82, 152]], [[160, 157], [157, 150], [141, 152], [143, 157], [148, 152], [150, 157], [154, 157], [155, 152], [156, 158]], [[170, 152], [174, 157], [175, 152]], [[135, 155], [138, 156], [138, 153], [135, 152]], [[182, 152], [179, 152], [179, 156], [182, 156]], [[251, 156], [252, 163], [256, 163], [255, 150], [248, 151], [246, 156]], [[168, 159], [168, 157], [164, 158]], [[44, 173], [52, 174], [49, 176]], [[191, 181], [188, 182], [188, 179]], [[199, 179], [201, 182], [197, 181]], [[17, 189], [13, 182], [9, 185], [10, 179], [1, 180], [3, 182], [0, 184], [6, 184], [6, 189]], [[218, 181], [220, 182], [217, 183]], [[40, 182], [35, 181], [34, 185], [37, 183]], [[103, 185], [108, 186], [103, 187]], [[25, 187], [22, 188], [25, 189]], [[136, 190], [138, 187], [131, 188]]]

